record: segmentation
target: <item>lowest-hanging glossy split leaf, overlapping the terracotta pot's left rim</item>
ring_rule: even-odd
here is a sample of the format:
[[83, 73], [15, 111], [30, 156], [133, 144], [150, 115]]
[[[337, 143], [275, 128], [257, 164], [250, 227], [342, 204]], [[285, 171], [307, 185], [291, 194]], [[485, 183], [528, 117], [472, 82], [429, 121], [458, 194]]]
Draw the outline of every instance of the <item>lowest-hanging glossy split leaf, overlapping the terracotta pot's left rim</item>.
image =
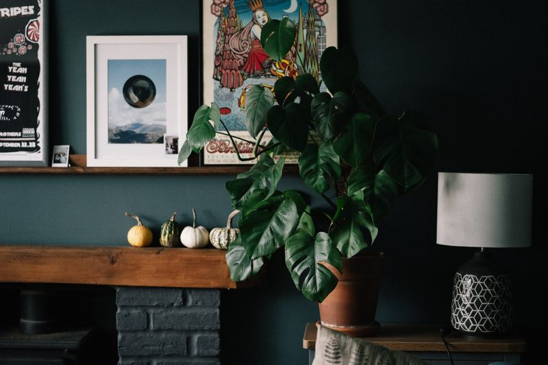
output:
[[343, 271], [340, 253], [325, 232], [319, 232], [315, 240], [302, 232], [287, 240], [286, 266], [297, 289], [311, 301], [323, 301], [337, 285], [335, 275], [321, 262]]

